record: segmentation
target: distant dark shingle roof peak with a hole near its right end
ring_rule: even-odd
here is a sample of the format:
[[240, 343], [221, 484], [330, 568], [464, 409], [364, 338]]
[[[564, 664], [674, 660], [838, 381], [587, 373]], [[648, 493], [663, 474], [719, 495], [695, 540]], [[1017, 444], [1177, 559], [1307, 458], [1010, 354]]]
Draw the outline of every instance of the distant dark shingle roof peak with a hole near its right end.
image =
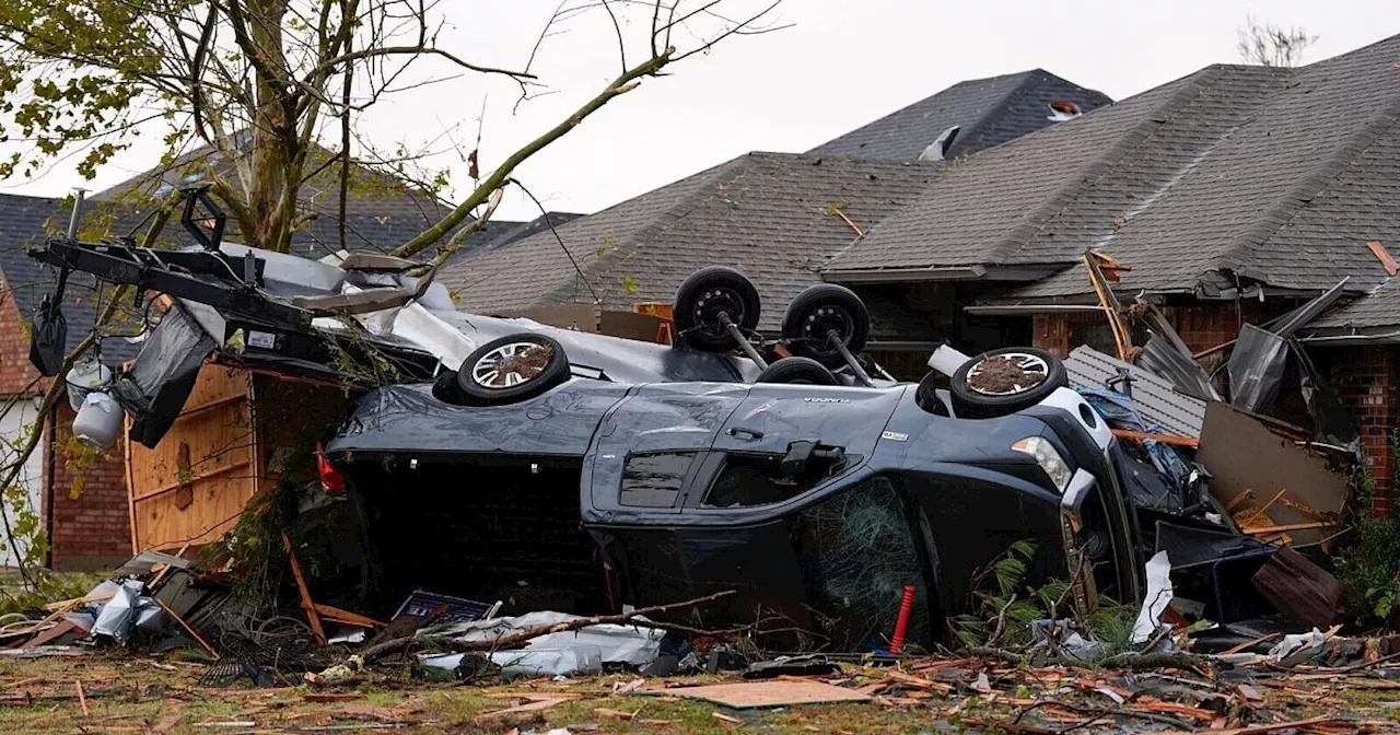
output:
[[1074, 102], [1084, 112], [1112, 102], [1103, 92], [1035, 69], [953, 84], [808, 153], [871, 161], [916, 161], [939, 133], [956, 125], [960, 130], [948, 150], [951, 160], [1053, 125], [1049, 119], [1051, 101]]

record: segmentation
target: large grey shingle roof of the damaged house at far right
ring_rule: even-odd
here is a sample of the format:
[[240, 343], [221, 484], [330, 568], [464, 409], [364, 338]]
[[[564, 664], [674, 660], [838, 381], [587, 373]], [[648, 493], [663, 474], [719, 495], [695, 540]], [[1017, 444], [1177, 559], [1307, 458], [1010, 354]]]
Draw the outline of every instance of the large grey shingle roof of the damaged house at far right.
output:
[[[1065, 265], [1095, 246], [1124, 290], [1233, 279], [1303, 291], [1385, 279], [1400, 242], [1400, 36], [1306, 67], [1212, 66], [944, 165], [829, 269]], [[1014, 291], [1089, 291], [1071, 267]]]

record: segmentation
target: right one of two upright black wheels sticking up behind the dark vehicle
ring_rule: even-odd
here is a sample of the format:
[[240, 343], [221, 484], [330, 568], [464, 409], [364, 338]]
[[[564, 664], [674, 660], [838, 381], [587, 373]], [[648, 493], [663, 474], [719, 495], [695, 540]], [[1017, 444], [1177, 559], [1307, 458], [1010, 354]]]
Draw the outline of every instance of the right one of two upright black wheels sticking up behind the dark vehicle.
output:
[[871, 315], [854, 291], [834, 283], [819, 283], [804, 290], [783, 315], [783, 339], [794, 350], [829, 368], [846, 364], [840, 350], [832, 347], [827, 333], [836, 330], [846, 349], [860, 353], [871, 333]]

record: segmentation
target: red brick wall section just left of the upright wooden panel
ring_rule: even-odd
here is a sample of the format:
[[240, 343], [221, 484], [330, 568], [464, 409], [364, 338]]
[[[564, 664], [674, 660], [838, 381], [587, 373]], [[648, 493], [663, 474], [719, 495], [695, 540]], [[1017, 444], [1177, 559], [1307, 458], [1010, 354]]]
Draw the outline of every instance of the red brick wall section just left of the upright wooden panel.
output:
[[[52, 430], [53, 456], [52, 567], [62, 571], [105, 568], [132, 557], [132, 518], [126, 497], [122, 437], [91, 455], [71, 448], [74, 412], [63, 400]], [[48, 448], [48, 442], [45, 442]], [[84, 456], [87, 455], [87, 456]], [[45, 472], [49, 468], [45, 456]], [[48, 508], [45, 508], [48, 511]]]

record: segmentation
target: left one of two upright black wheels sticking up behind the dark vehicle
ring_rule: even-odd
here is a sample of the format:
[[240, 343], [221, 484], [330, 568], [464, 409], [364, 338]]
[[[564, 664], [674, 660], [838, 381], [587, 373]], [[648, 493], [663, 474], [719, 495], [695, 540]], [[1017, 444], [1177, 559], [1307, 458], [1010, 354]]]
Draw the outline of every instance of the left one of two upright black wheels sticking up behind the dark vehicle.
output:
[[720, 321], [729, 321], [745, 332], [759, 326], [759, 290], [743, 273], [725, 266], [696, 270], [676, 290], [672, 305], [676, 333], [683, 342], [708, 353], [728, 353], [739, 349]]

